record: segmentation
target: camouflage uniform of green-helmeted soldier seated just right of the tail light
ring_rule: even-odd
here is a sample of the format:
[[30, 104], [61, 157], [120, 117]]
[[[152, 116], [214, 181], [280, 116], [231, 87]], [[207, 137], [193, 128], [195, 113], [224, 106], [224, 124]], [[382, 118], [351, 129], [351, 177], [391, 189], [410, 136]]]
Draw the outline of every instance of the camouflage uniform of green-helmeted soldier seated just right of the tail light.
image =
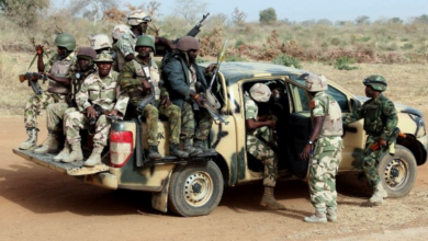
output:
[[150, 58], [149, 64], [145, 65], [143, 59], [137, 56], [133, 61], [125, 65], [120, 78], [120, 87], [122, 90], [126, 90], [129, 95], [129, 102], [133, 106], [138, 107], [145, 93], [142, 87], [142, 79], [147, 79], [144, 67], [149, 68], [149, 74], [151, 84], [155, 87], [156, 101], [153, 104], [147, 104], [143, 110], [143, 116], [146, 117], [146, 125], [148, 130], [147, 142], [149, 146], [157, 146], [157, 131], [158, 131], [158, 117], [159, 115], [167, 116], [170, 125], [171, 144], [179, 144], [180, 128], [181, 128], [181, 111], [177, 105], [169, 105], [165, 107], [160, 104], [164, 97], [168, 97], [168, 92], [165, 88], [159, 88], [159, 70], [156, 62]]

